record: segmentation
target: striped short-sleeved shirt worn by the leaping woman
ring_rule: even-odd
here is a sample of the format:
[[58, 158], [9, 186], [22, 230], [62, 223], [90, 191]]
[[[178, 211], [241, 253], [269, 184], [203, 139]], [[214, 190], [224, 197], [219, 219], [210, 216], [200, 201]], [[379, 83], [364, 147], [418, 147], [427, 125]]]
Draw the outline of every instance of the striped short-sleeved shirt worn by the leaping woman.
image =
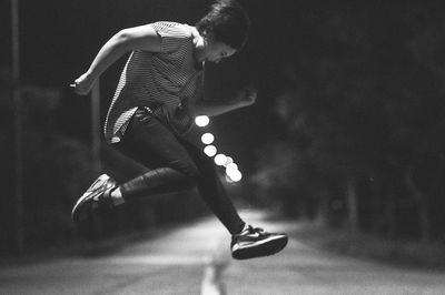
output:
[[194, 27], [176, 22], [150, 24], [160, 37], [160, 52], [135, 50], [122, 70], [105, 123], [108, 143], [117, 143], [138, 108], [146, 108], [181, 134], [192, 119], [187, 102], [204, 96], [204, 67], [194, 58]]

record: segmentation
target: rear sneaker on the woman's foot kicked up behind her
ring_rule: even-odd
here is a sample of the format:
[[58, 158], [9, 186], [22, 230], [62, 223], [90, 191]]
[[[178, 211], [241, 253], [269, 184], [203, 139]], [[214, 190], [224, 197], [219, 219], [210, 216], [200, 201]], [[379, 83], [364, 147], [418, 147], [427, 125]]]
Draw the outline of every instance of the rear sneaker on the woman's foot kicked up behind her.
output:
[[86, 220], [88, 215], [100, 207], [112, 207], [111, 191], [117, 187], [113, 179], [107, 174], [100, 175], [77, 201], [71, 212], [73, 222]]

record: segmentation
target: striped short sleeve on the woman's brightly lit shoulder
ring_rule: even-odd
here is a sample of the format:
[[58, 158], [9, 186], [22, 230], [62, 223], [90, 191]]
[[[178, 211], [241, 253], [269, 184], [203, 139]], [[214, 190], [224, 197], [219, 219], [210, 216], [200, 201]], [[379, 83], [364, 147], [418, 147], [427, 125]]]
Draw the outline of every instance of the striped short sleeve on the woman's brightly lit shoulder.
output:
[[184, 24], [177, 22], [159, 21], [152, 23], [151, 27], [160, 37], [160, 51], [162, 53], [178, 51], [191, 38]]

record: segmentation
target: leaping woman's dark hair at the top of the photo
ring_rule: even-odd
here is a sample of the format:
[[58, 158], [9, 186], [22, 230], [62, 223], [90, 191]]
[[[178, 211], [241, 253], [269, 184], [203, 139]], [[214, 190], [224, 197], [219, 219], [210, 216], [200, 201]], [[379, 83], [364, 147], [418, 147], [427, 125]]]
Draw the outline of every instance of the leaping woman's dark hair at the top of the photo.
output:
[[210, 11], [196, 23], [200, 34], [240, 50], [247, 42], [250, 19], [235, 0], [217, 0]]

